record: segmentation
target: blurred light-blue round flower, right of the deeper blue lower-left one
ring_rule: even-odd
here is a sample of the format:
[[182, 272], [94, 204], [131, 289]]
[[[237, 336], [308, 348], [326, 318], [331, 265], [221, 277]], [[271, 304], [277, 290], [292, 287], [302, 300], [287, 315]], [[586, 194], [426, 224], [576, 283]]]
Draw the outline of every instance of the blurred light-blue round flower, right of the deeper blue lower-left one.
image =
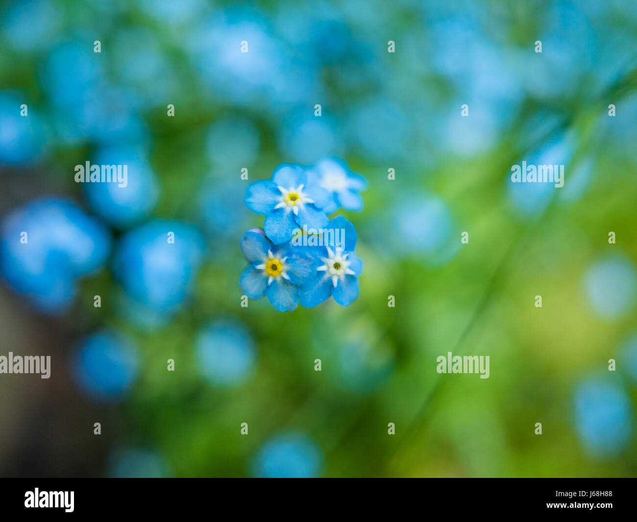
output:
[[238, 386], [252, 372], [256, 349], [241, 323], [218, 320], [197, 335], [195, 355], [197, 366], [210, 383]]

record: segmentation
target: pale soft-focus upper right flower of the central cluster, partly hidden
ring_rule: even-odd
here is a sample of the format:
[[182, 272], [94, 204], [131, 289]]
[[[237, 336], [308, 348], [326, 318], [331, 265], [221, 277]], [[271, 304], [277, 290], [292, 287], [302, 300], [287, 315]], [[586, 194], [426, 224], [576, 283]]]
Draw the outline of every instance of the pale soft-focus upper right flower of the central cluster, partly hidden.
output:
[[329, 202], [323, 207], [327, 214], [344, 208], [362, 210], [361, 191], [367, 188], [367, 181], [354, 174], [345, 162], [335, 158], [321, 158], [310, 171], [308, 178], [330, 194]]

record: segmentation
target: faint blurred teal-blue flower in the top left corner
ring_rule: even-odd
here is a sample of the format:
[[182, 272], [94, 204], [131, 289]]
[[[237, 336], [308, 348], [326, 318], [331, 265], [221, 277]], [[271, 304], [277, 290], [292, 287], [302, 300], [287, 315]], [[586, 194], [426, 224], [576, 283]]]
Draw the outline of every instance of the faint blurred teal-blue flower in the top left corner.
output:
[[49, 0], [13, 1], [4, 11], [2, 32], [18, 50], [46, 48], [61, 27], [61, 10]]

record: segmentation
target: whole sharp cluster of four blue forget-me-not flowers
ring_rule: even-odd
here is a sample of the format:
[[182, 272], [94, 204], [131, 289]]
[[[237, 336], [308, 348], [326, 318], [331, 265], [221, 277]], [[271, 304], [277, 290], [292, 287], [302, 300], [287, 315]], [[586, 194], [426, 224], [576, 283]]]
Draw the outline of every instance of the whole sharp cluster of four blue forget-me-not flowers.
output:
[[362, 261], [354, 253], [354, 225], [340, 208], [361, 210], [366, 180], [340, 160], [324, 158], [310, 168], [282, 164], [270, 180], [252, 183], [245, 204], [265, 216], [263, 229], [250, 229], [240, 246], [250, 265], [239, 284], [249, 299], [268, 296], [286, 312], [318, 306], [330, 296], [349, 306], [359, 294]]

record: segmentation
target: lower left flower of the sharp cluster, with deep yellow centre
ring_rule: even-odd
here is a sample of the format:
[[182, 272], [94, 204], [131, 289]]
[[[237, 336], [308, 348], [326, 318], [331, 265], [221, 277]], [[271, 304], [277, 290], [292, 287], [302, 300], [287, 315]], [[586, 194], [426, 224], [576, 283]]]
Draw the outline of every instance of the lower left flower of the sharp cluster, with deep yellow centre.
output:
[[304, 253], [293, 251], [289, 243], [273, 245], [254, 229], [241, 237], [240, 245], [250, 263], [239, 279], [244, 295], [250, 299], [268, 295], [272, 306], [280, 312], [296, 309], [299, 304], [297, 285], [310, 276], [313, 260]]

